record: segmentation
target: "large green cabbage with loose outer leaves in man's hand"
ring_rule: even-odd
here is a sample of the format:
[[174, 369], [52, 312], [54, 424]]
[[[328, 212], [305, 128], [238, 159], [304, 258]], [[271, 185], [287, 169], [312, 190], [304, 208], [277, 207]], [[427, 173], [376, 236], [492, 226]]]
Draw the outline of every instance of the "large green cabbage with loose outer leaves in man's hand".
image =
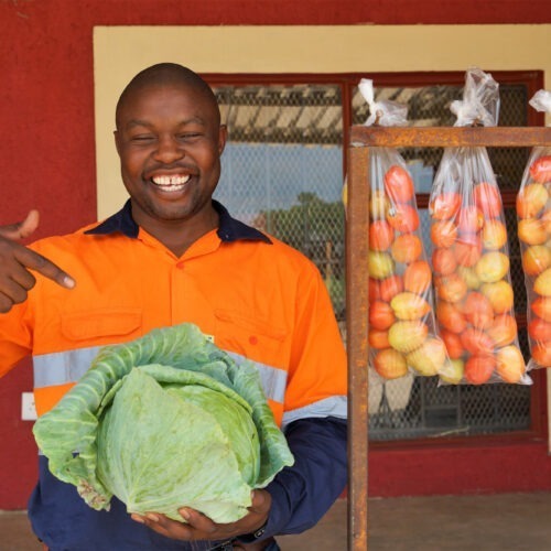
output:
[[293, 464], [257, 369], [237, 365], [193, 324], [101, 348], [33, 428], [54, 476], [94, 509], [216, 522], [247, 514], [252, 488]]

